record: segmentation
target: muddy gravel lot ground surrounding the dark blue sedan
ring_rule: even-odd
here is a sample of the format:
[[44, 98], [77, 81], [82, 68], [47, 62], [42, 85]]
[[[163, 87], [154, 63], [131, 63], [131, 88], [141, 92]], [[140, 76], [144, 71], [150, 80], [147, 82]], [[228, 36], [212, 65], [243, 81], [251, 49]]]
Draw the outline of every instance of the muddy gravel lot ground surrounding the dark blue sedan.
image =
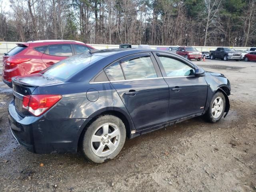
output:
[[198, 117], [127, 140], [103, 164], [19, 146], [8, 124], [12, 92], [0, 81], [0, 191], [255, 192], [256, 62], [194, 63], [230, 80], [228, 116], [216, 124]]

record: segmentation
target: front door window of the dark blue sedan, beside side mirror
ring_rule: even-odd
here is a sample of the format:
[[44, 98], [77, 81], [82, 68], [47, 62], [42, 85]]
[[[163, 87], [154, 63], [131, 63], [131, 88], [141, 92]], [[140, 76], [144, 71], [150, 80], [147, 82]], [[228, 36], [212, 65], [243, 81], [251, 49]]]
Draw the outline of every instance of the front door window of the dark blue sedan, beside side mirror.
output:
[[168, 56], [159, 56], [167, 77], [192, 76], [194, 69], [183, 62]]

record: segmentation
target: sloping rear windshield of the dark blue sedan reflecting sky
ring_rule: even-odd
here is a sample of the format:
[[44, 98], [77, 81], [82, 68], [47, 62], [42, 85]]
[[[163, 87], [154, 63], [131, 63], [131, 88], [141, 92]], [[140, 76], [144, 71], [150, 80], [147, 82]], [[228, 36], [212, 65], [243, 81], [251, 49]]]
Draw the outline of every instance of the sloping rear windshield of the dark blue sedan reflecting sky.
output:
[[65, 81], [92, 62], [96, 62], [103, 58], [98, 55], [91, 55], [90, 53], [79, 54], [67, 59], [64, 59], [40, 73], [46, 78], [54, 78]]

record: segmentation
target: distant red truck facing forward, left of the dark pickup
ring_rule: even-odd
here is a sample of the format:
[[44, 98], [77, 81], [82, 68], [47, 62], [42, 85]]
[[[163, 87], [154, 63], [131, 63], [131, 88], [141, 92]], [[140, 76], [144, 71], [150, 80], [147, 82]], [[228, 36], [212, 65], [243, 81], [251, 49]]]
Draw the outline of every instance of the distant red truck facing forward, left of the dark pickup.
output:
[[185, 57], [186, 59], [196, 59], [200, 61], [202, 59], [202, 53], [191, 46], [179, 47], [176, 54]]

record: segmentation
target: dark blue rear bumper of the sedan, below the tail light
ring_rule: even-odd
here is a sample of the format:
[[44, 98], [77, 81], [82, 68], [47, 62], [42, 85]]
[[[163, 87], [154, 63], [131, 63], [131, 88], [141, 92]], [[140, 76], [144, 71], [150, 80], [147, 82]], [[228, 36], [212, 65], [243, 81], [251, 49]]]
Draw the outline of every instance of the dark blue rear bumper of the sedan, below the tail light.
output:
[[12, 101], [8, 108], [12, 135], [19, 144], [38, 154], [76, 153], [78, 140], [90, 119], [49, 120], [44, 116], [22, 118]]

